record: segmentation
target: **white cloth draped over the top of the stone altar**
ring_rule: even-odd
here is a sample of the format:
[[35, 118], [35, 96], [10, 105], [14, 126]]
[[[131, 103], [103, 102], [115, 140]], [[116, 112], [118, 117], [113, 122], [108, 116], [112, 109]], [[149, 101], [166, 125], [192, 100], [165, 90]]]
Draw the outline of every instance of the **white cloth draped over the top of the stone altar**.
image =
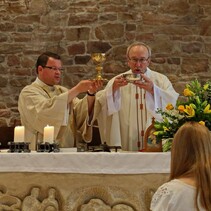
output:
[[155, 152], [0, 152], [1, 172], [81, 174], [169, 173], [170, 153]]

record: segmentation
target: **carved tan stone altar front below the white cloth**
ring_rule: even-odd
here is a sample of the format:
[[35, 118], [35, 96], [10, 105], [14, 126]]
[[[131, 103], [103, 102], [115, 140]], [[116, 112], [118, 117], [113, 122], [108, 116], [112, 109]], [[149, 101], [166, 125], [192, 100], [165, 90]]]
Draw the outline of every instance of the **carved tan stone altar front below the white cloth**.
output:
[[145, 211], [167, 179], [168, 174], [0, 173], [0, 210]]

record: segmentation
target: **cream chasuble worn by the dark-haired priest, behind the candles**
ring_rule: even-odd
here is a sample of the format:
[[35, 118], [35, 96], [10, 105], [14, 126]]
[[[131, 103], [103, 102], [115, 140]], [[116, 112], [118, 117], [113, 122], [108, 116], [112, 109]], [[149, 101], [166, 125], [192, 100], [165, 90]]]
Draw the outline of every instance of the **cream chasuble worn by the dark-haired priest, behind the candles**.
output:
[[47, 86], [38, 78], [21, 91], [18, 109], [25, 126], [25, 141], [31, 142], [32, 150], [38, 141], [42, 142], [46, 125], [54, 126], [54, 137], [60, 147], [73, 147], [78, 131], [85, 141], [91, 141], [87, 99], [74, 98], [68, 105], [67, 91], [59, 85]]

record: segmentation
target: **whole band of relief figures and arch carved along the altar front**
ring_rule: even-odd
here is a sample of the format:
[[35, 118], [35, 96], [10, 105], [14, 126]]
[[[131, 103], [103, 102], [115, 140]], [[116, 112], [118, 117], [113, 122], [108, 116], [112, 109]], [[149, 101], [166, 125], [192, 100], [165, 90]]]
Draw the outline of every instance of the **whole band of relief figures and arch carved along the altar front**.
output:
[[[10, 211], [138, 211], [147, 210], [154, 189], [142, 186], [139, 195], [117, 186], [80, 187], [67, 192], [65, 201], [56, 188], [32, 186], [16, 197], [0, 186], [0, 210]], [[146, 207], [147, 204], [147, 207]]]

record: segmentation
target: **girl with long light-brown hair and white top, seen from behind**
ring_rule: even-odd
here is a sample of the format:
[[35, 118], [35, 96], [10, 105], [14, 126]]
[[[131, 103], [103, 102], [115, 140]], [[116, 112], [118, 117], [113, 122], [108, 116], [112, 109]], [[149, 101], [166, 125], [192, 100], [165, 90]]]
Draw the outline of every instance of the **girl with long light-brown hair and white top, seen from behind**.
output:
[[170, 181], [153, 195], [152, 211], [211, 210], [211, 135], [207, 127], [187, 122], [175, 134]]

